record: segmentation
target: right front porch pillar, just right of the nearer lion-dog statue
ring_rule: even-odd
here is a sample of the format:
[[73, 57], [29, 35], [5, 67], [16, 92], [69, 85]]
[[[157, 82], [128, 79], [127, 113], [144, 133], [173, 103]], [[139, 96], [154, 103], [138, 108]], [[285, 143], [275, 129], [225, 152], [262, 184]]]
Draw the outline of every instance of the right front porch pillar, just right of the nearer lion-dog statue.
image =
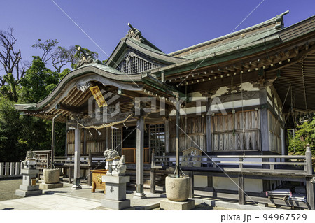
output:
[[137, 192], [136, 198], [144, 199], [144, 116], [140, 111], [139, 120], [137, 120]]

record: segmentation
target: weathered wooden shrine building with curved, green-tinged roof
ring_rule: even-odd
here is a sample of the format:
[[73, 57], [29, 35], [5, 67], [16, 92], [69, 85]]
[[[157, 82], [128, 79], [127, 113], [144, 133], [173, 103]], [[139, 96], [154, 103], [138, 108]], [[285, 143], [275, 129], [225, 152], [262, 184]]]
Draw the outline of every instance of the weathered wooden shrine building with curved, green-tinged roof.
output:
[[287, 13], [169, 54], [130, 25], [106, 64], [83, 54], [43, 101], [15, 108], [66, 123], [75, 185], [80, 155], [112, 148], [136, 163], [137, 192], [150, 164], [154, 192], [155, 174], [172, 173], [177, 128], [183, 171], [195, 175], [195, 187], [237, 190], [226, 173], [248, 194], [300, 181], [314, 210], [309, 153], [302, 168], [290, 169], [286, 121], [293, 111], [315, 110], [315, 16], [284, 27]]

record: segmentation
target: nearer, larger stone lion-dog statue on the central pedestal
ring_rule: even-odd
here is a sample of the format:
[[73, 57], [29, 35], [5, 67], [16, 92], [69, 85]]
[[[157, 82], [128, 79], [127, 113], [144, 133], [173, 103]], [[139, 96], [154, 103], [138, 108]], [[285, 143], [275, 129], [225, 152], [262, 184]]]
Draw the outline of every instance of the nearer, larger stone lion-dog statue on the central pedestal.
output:
[[125, 155], [119, 156], [116, 150], [105, 150], [106, 168], [111, 175], [122, 175], [126, 172]]

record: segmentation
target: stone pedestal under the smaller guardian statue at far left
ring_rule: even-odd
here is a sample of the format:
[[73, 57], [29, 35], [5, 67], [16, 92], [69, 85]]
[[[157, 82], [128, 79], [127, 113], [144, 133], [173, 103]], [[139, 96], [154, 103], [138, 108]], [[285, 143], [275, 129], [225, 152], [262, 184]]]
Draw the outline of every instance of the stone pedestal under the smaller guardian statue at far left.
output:
[[39, 171], [35, 168], [22, 169], [22, 185], [15, 191], [18, 196], [35, 196], [42, 194], [42, 190], [36, 185], [36, 175]]

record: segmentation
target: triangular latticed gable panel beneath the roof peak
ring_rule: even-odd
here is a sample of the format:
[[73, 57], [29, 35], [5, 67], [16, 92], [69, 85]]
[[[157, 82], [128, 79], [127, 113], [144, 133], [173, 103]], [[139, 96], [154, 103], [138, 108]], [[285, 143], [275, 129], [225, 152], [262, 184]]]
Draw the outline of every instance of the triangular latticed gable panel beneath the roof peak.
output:
[[122, 73], [141, 73], [155, 69], [158, 66], [162, 66], [162, 64], [155, 63], [151, 59], [140, 56], [133, 50], [127, 50], [116, 69]]

